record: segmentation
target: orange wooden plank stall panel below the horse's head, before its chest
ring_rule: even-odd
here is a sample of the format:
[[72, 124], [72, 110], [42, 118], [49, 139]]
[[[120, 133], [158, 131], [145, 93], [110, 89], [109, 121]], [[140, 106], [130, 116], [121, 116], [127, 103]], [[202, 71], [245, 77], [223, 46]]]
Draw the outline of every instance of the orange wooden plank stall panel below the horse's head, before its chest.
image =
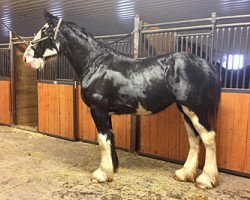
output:
[[38, 131], [74, 139], [74, 86], [38, 83]]

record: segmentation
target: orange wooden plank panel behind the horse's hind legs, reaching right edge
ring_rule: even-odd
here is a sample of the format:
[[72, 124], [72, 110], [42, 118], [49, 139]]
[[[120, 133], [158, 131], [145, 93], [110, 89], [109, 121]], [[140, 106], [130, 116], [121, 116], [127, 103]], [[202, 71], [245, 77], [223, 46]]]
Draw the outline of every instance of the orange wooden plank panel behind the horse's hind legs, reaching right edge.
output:
[[[185, 161], [187, 133], [175, 105], [141, 117], [140, 152]], [[216, 124], [218, 167], [250, 173], [250, 94], [222, 93]], [[200, 164], [204, 163], [204, 147]]]

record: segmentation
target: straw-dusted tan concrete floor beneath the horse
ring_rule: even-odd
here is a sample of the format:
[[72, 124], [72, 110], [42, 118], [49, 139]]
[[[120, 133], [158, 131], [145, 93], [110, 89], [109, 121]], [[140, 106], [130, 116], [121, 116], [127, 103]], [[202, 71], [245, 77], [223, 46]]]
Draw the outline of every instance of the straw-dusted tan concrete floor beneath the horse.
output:
[[181, 166], [118, 151], [111, 183], [93, 184], [97, 145], [0, 126], [0, 200], [250, 199], [250, 179], [220, 173], [220, 185], [201, 190], [173, 179]]

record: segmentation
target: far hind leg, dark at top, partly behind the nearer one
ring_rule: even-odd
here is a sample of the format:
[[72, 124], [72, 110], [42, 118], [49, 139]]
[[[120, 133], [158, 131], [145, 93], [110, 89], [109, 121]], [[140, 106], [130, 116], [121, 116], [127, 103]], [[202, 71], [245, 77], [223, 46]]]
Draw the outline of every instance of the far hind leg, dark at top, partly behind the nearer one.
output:
[[[181, 108], [180, 111], [183, 112]], [[175, 171], [175, 179], [180, 181], [195, 182], [198, 171], [200, 136], [195, 133], [195, 129], [190, 119], [183, 113], [182, 117], [188, 133], [190, 149], [184, 166], [181, 169]]]

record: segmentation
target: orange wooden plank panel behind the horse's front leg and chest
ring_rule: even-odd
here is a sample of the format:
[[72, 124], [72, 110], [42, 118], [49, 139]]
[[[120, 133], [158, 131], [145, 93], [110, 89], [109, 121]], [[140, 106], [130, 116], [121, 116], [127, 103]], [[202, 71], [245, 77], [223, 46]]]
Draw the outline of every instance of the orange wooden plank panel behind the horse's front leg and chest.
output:
[[[80, 86], [77, 86], [77, 138], [85, 141], [97, 141], [97, 130], [91, 117], [89, 108], [83, 103]], [[112, 125], [116, 146], [130, 149], [131, 116], [114, 115]]]

